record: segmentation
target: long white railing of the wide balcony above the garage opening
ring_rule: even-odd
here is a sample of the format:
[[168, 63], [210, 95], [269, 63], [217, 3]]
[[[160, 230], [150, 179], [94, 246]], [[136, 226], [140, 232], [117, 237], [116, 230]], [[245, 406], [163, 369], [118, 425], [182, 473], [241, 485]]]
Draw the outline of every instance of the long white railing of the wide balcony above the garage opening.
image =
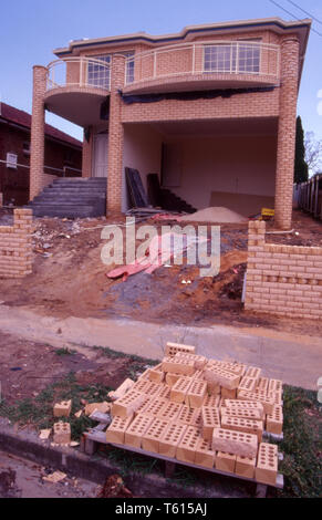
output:
[[216, 73], [278, 80], [280, 48], [272, 43], [238, 40], [167, 45], [127, 58], [125, 84], [191, 74], [202, 74], [207, 79]]

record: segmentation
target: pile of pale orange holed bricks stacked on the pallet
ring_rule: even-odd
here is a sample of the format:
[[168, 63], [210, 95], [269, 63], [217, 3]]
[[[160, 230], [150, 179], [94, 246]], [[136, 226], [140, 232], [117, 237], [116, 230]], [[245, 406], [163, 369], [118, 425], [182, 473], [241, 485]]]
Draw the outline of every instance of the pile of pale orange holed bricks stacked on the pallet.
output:
[[191, 349], [169, 344], [114, 402], [107, 441], [274, 485], [277, 446], [262, 436], [282, 433], [282, 382]]

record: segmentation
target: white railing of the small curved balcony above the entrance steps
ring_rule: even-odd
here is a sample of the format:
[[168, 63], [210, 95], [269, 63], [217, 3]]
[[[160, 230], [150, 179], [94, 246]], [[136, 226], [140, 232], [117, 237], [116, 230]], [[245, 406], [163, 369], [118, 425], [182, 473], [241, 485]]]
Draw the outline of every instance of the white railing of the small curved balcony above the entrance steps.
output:
[[48, 65], [46, 90], [62, 86], [111, 89], [111, 64], [106, 58], [66, 58]]

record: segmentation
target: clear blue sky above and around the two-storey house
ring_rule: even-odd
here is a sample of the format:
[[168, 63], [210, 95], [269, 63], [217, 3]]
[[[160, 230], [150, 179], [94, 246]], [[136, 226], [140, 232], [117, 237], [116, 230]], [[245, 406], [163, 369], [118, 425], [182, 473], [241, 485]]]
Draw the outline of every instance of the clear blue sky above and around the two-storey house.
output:
[[[185, 25], [279, 15], [307, 18], [288, 0], [276, 0], [294, 13], [290, 17], [269, 0], [2, 0], [0, 33], [0, 98], [31, 112], [32, 65], [46, 65], [52, 50], [70, 40], [146, 31], [163, 34]], [[321, 0], [294, 0], [322, 20]], [[313, 22], [322, 33], [322, 24]], [[322, 37], [311, 32], [302, 76], [298, 113], [304, 131], [322, 139]], [[81, 128], [46, 114], [46, 122], [82, 138]]]

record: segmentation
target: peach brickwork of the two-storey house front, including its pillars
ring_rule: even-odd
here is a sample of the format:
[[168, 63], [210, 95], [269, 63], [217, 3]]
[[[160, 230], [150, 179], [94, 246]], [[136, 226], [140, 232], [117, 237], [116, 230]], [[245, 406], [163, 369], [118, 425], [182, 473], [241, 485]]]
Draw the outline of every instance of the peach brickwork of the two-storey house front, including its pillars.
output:
[[[292, 24], [293, 23], [293, 24]], [[253, 27], [251, 27], [253, 24]], [[300, 25], [303, 25], [299, 29]], [[278, 124], [277, 166], [276, 166], [276, 221], [278, 227], [288, 229], [291, 226], [292, 212], [292, 183], [294, 164], [294, 138], [297, 98], [300, 77], [300, 54], [305, 52], [305, 38], [301, 33], [309, 32], [309, 21], [281, 22], [255, 20], [241, 29], [242, 23], [228, 28], [199, 27], [184, 30], [181, 33], [164, 37], [128, 35], [120, 37], [117, 41], [92, 41], [71, 43], [69, 49], [59, 50], [58, 56], [104, 56], [111, 58], [111, 90], [106, 87], [110, 98], [108, 121], [108, 175], [107, 175], [107, 209], [120, 211], [122, 208], [123, 155], [124, 155], [124, 125], [154, 124], [172, 122], [214, 122], [220, 121], [250, 121], [276, 119]], [[277, 30], [277, 25], [280, 25]], [[225, 28], [226, 27], [226, 28]], [[283, 32], [283, 30], [285, 31]], [[219, 29], [219, 32], [218, 32]], [[308, 35], [308, 34], [307, 34]], [[205, 71], [205, 45], [216, 42], [225, 43], [259, 41], [260, 62], [257, 71], [242, 71], [232, 73]], [[173, 52], [170, 45], [177, 45]], [[74, 49], [75, 45], [75, 49]], [[186, 46], [185, 46], [186, 45]], [[169, 49], [167, 49], [169, 46]], [[76, 49], [79, 48], [79, 49]], [[157, 56], [154, 50], [160, 51]], [[126, 53], [134, 55], [134, 82], [125, 82]], [[141, 54], [146, 52], [145, 54]], [[248, 59], [249, 60], [249, 59]], [[251, 59], [250, 59], [251, 60]], [[220, 58], [219, 58], [220, 61]], [[193, 64], [193, 65], [191, 65]], [[221, 65], [222, 66], [222, 65]], [[233, 67], [233, 64], [230, 65]], [[67, 65], [66, 81], [72, 83], [80, 79], [80, 70], [75, 62]], [[209, 73], [210, 72], [210, 73]], [[83, 79], [82, 79], [83, 80]], [[202, 91], [216, 89], [242, 89], [251, 86], [272, 86], [270, 92], [250, 92], [236, 94], [231, 97], [195, 98], [190, 101], [162, 100], [154, 103], [125, 104], [120, 96], [124, 94], [163, 93], [183, 91]], [[62, 85], [64, 93], [87, 93], [90, 85]], [[59, 91], [59, 89], [55, 89]], [[44, 98], [50, 101], [54, 91], [49, 91]], [[34, 189], [37, 191], [39, 177], [39, 160], [41, 160], [41, 132], [42, 111], [41, 96], [43, 96], [43, 71], [34, 70]], [[93, 94], [94, 96], [94, 94]], [[90, 97], [89, 97], [90, 98]], [[94, 107], [94, 103], [93, 103]], [[80, 106], [80, 110], [81, 106]], [[89, 108], [87, 108], [89, 111]], [[220, 123], [219, 123], [220, 124]], [[92, 132], [102, 132], [103, 122], [97, 118]], [[93, 137], [84, 145], [83, 176], [92, 175]], [[259, 171], [260, 175], [260, 171]], [[263, 195], [263, 194], [258, 194]]]

